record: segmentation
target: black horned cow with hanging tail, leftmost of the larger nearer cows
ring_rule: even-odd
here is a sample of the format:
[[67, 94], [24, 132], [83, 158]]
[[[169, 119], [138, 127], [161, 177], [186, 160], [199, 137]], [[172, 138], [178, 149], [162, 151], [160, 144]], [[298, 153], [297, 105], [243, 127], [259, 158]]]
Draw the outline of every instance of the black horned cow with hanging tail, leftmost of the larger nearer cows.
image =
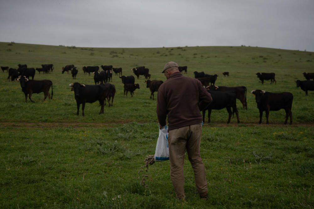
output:
[[[29, 80], [26, 76], [19, 76], [18, 81], [20, 81], [20, 85], [22, 87], [22, 91], [25, 95], [25, 102], [27, 102], [27, 95], [30, 98], [31, 102], [34, 102], [31, 99], [33, 93], [41, 93], [44, 92], [44, 101], [46, 100], [47, 96], [49, 99], [52, 99], [53, 96], [53, 89], [52, 89], [52, 81], [50, 80], [41, 80], [41, 81], [34, 81]], [[49, 89], [51, 86], [51, 97], [49, 93]]]

